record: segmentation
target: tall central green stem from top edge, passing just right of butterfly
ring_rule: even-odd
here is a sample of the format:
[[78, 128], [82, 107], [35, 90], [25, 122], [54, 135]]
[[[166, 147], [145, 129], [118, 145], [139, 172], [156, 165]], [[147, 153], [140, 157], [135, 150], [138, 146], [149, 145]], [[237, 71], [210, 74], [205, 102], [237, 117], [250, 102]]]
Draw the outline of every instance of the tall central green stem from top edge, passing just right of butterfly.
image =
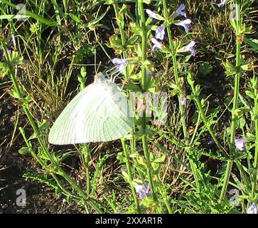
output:
[[[137, 0], [137, 6], [139, 7], [139, 15], [140, 15], [140, 26], [141, 26], [141, 88], [143, 92], [146, 92], [146, 54], [147, 54], [147, 34], [146, 34], [146, 18], [144, 14], [144, 4], [142, 0]], [[156, 192], [154, 188], [154, 181], [152, 177], [152, 170], [151, 170], [151, 161], [149, 157], [149, 150], [148, 150], [148, 139], [146, 137], [146, 110], [144, 109], [143, 117], [141, 119], [141, 128], [143, 130], [144, 135], [141, 136], [141, 141], [144, 147], [144, 156], [147, 162], [147, 175], [148, 180], [151, 185], [151, 192], [154, 201], [157, 201]]]

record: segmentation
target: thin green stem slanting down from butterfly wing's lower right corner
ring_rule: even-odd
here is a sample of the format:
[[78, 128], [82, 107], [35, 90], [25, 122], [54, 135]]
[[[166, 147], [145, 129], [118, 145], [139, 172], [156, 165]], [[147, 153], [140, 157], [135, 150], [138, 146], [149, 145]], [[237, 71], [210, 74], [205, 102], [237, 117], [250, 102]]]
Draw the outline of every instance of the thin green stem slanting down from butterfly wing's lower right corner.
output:
[[134, 187], [134, 182], [133, 182], [134, 179], [133, 179], [133, 175], [132, 175], [132, 172], [131, 172], [131, 164], [130, 164], [129, 153], [128, 153], [128, 150], [127, 150], [127, 144], [125, 143], [125, 140], [123, 138], [121, 139], [121, 142], [122, 142], [122, 147], [123, 147], [123, 150], [124, 150], [124, 156], [126, 158], [125, 163], [127, 165], [127, 173], [128, 173], [128, 176], [129, 176], [131, 193], [134, 197], [134, 204], [135, 204], [137, 212], [141, 213], [141, 208], [140, 208], [140, 205], [139, 205], [139, 201], [138, 201], [138, 198], [137, 198], [137, 195], [136, 195], [136, 192], [135, 192], [135, 187]]

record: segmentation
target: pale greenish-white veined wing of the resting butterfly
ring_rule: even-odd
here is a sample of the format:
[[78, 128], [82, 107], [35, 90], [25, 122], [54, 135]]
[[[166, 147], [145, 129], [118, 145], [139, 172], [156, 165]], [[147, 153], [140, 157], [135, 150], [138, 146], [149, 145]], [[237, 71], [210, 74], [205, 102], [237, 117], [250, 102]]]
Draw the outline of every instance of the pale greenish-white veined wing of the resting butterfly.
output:
[[114, 83], [93, 83], [78, 93], [48, 135], [56, 145], [107, 142], [127, 135], [133, 118], [127, 98]]

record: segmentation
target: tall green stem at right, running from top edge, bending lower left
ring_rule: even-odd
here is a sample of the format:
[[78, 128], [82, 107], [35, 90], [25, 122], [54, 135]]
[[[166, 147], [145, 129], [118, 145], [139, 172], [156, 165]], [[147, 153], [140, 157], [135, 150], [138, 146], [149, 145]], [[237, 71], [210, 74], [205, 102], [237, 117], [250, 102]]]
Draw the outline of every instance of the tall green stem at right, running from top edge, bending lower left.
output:
[[[241, 43], [240, 43], [240, 34], [239, 34], [239, 28], [240, 28], [240, 23], [241, 23], [241, 13], [240, 13], [240, 1], [238, 0], [235, 4], [235, 10], [236, 10], [236, 67], [240, 67], [240, 51], [241, 51]], [[235, 75], [235, 87], [234, 87], [234, 100], [233, 100], [233, 108], [232, 108], [232, 118], [231, 118], [231, 129], [230, 129], [230, 156], [232, 157], [235, 152], [235, 147], [234, 147], [234, 141], [235, 141], [235, 131], [237, 128], [237, 120], [235, 117], [235, 110], [237, 109], [237, 104], [238, 104], [238, 93], [239, 93], [239, 88], [240, 88], [240, 73], [238, 72]], [[224, 177], [224, 182], [222, 186], [222, 191], [220, 192], [220, 202], [225, 198], [226, 192], [227, 192], [227, 185], [230, 180], [230, 173], [232, 170], [232, 165], [234, 161], [230, 160], [227, 162], [227, 170], [225, 173]]]

